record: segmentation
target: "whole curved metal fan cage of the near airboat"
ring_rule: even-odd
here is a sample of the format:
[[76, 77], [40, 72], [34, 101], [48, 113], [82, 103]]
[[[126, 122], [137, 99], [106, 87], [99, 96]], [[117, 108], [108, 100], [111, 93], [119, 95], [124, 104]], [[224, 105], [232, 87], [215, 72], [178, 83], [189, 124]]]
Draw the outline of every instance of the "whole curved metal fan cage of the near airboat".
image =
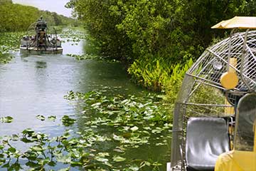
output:
[[[235, 33], [207, 48], [187, 71], [174, 108], [171, 167], [184, 160], [181, 148], [184, 147], [186, 121], [191, 115], [226, 115], [226, 109], [233, 108], [238, 96], [256, 89], [255, 55], [256, 31], [247, 35], [245, 32]], [[227, 71], [238, 76], [238, 86], [231, 90], [220, 83], [220, 77]], [[228, 114], [233, 115], [233, 112]]]

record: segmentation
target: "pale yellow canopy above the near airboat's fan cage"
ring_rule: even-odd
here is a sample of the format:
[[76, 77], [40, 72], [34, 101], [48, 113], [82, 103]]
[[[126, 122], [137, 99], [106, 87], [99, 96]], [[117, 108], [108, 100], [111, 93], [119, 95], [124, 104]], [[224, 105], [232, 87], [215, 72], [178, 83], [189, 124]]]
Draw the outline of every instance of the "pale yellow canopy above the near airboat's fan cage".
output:
[[232, 19], [220, 21], [211, 28], [256, 28], [255, 16], [235, 16]]

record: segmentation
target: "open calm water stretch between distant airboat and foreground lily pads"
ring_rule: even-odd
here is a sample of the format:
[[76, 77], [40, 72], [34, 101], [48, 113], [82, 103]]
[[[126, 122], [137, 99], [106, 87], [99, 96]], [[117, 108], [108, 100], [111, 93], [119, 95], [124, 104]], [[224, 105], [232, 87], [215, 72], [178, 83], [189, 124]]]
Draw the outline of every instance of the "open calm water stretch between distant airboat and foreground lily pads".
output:
[[[71, 46], [63, 43], [63, 54], [33, 55], [15, 53], [11, 63], [0, 64], [0, 113], [14, 122], [0, 124], [0, 135], [20, 133], [25, 128], [58, 135], [63, 128], [60, 118], [74, 115], [75, 109], [63, 98], [70, 90], [86, 92], [104, 86], [122, 86], [138, 90], [118, 63], [75, 61], [65, 53], [82, 54], [85, 41]], [[36, 115], [56, 115], [55, 123], [36, 119]], [[58, 130], [58, 131], [56, 131]]]

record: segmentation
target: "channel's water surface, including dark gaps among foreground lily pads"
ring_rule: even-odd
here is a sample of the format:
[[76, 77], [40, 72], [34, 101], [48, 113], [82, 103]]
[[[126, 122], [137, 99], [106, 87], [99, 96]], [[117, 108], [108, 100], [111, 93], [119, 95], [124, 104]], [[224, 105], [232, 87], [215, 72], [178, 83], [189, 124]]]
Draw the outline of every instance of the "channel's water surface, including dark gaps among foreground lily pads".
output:
[[[88, 92], [90, 90], [107, 90], [110, 94], [144, 95], [146, 90], [134, 86], [129, 81], [127, 73], [120, 63], [103, 61], [77, 61], [67, 56], [67, 53], [82, 55], [86, 53], [87, 41], [81, 40], [76, 45], [66, 41], [63, 43], [63, 54], [32, 55], [15, 51], [13, 60], [0, 64], [0, 117], [11, 116], [12, 123], [0, 123], [0, 136], [21, 133], [26, 128], [36, 132], [58, 136], [67, 128], [61, 124], [60, 118], [69, 115], [78, 118], [81, 107], [78, 103], [70, 103], [64, 96], [70, 90], [73, 92]], [[55, 115], [56, 120], [41, 121], [36, 118], [43, 115], [46, 118]], [[90, 118], [87, 118], [90, 120]], [[83, 130], [86, 125], [82, 121], [69, 129]], [[113, 133], [117, 128], [110, 130]], [[165, 170], [170, 156], [169, 131], [152, 135], [151, 142], [139, 147], [130, 148], [124, 155], [129, 160], [145, 160], [157, 162], [159, 166], [151, 166], [145, 170]], [[156, 146], [154, 140], [168, 140], [165, 145]], [[104, 144], [104, 143], [103, 143]], [[28, 146], [16, 143], [19, 148]], [[110, 151], [110, 143], [106, 142], [99, 149]], [[126, 165], [126, 164], [125, 164]], [[58, 170], [61, 166], [53, 169]], [[0, 170], [4, 170], [1, 169]], [[70, 170], [83, 170], [73, 167]], [[136, 170], [136, 168], [134, 169]], [[144, 169], [142, 169], [144, 170]]]

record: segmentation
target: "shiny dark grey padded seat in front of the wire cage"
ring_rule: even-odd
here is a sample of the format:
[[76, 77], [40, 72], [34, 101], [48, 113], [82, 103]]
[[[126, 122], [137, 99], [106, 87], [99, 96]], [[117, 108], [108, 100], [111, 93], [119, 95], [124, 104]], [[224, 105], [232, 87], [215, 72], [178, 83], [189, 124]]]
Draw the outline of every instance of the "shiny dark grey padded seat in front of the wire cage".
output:
[[228, 125], [223, 118], [190, 118], [186, 130], [188, 171], [214, 170], [220, 154], [230, 150]]

